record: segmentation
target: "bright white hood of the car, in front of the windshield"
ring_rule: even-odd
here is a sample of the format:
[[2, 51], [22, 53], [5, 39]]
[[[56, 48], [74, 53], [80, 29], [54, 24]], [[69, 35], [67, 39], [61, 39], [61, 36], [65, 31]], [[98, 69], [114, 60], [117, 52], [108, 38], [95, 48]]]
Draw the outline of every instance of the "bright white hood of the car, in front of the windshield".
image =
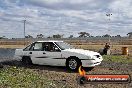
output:
[[79, 54], [88, 55], [88, 56], [100, 55], [97, 52], [89, 51], [89, 50], [83, 50], [83, 49], [65, 49], [64, 51], [79, 53]]

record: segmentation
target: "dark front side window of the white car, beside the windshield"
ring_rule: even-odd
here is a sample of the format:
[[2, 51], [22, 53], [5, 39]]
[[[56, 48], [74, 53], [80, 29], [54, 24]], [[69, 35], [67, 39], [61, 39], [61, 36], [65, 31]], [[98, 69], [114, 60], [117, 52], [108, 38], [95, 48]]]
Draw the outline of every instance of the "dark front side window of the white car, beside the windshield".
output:
[[60, 51], [60, 49], [52, 42], [45, 42], [43, 48], [44, 48], [44, 51], [50, 51], [50, 52]]

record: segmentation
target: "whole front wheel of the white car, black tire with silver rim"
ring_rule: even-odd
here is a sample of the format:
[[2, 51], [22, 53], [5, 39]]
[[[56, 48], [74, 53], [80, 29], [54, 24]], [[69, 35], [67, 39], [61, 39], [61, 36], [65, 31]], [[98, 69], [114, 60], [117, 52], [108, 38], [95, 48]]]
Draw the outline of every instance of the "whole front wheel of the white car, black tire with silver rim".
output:
[[78, 71], [81, 61], [78, 58], [69, 58], [66, 61], [66, 68], [70, 71]]

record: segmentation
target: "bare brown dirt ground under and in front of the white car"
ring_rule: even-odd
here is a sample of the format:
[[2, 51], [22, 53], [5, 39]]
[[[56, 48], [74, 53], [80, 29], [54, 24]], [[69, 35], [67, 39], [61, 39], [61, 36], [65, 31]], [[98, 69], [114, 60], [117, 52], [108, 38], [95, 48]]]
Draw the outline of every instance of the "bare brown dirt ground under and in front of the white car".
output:
[[[30, 68], [41, 75], [45, 75], [57, 84], [64, 84], [70, 88], [132, 88], [132, 83], [129, 84], [85, 84], [80, 86], [77, 84], [79, 73], [68, 72], [65, 67], [56, 66], [39, 66], [39, 65], [23, 65], [20, 61], [10, 60], [2, 62], [4, 66], [16, 66]], [[132, 64], [113, 63], [103, 61], [100, 66], [96, 66], [92, 71], [87, 71], [87, 74], [130, 74], [132, 76]]]

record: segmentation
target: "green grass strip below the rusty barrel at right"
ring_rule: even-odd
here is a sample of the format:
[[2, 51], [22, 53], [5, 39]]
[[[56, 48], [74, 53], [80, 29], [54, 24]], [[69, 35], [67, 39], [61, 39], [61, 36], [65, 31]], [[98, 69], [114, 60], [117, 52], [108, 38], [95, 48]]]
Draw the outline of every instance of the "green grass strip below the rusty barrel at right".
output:
[[103, 55], [104, 61], [132, 64], [132, 56], [125, 55]]

